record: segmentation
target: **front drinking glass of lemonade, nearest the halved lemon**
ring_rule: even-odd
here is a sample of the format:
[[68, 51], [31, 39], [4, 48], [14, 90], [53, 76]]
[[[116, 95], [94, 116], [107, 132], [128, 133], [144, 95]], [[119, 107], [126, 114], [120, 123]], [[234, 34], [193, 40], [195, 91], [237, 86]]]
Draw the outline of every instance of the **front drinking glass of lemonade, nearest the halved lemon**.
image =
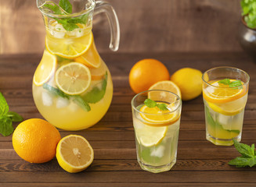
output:
[[148, 90], [132, 99], [136, 152], [143, 170], [169, 171], [176, 163], [182, 101], [165, 90]]

